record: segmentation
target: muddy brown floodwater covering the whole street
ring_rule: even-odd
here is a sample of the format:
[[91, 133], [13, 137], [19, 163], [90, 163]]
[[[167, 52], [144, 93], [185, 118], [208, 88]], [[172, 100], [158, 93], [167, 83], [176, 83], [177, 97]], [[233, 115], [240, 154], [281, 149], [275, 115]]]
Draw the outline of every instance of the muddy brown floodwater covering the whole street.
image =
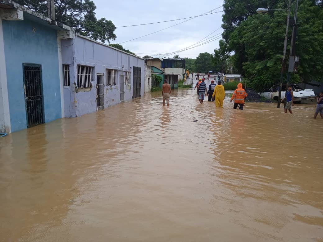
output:
[[[315, 105], [160, 93], [0, 139], [0, 241], [322, 241]], [[197, 122], [193, 122], [197, 119]]]

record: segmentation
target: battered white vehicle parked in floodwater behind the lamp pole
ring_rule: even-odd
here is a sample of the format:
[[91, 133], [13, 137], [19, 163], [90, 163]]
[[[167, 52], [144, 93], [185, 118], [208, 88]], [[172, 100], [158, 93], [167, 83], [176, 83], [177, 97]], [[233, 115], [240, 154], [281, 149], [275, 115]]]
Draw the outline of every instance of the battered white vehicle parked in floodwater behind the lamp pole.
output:
[[[312, 89], [302, 89], [300, 88], [297, 84], [291, 84], [292, 86], [292, 91], [293, 91], [293, 96], [294, 96], [294, 101], [295, 102], [300, 102], [302, 100], [311, 100], [311, 99], [316, 99], [317, 96], [315, 96], [314, 91]], [[282, 86], [282, 94], [281, 94], [281, 99], [285, 97], [285, 92], [286, 92], [286, 85]], [[272, 86], [269, 88], [268, 91], [258, 93], [260, 96], [263, 96], [268, 99], [278, 99], [278, 86]]]

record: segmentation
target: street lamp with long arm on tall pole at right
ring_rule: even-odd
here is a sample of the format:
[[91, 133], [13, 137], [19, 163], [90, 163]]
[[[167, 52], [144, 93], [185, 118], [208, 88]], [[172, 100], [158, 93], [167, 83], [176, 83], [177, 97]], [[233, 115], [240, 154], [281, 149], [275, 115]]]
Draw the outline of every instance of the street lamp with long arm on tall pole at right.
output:
[[[297, 0], [297, 3], [298, 3], [298, 0]], [[282, 68], [281, 68], [281, 73], [280, 73], [280, 81], [279, 81], [279, 91], [278, 91], [278, 99], [277, 99], [277, 108], [280, 108], [280, 99], [281, 99], [281, 95], [282, 95], [284, 67], [286, 65], [286, 49], [287, 49], [287, 39], [288, 39], [288, 25], [289, 25], [289, 16], [290, 16], [290, 5], [291, 5], [291, 0], [288, 1], [288, 8], [287, 8], [288, 9], [288, 14], [287, 14], [286, 33], [285, 33], [285, 41], [284, 41], [283, 63], [282, 63]], [[258, 14], [261, 14], [261, 13], [266, 13], [268, 11], [287, 10], [287, 9], [266, 9], [266, 8], [258, 8], [256, 10], [256, 12]], [[295, 12], [297, 12], [297, 7], [295, 9]], [[295, 20], [295, 23], [296, 23], [296, 20]], [[293, 28], [293, 33], [294, 33], [294, 28]], [[293, 44], [293, 39], [292, 39], [292, 44]]]

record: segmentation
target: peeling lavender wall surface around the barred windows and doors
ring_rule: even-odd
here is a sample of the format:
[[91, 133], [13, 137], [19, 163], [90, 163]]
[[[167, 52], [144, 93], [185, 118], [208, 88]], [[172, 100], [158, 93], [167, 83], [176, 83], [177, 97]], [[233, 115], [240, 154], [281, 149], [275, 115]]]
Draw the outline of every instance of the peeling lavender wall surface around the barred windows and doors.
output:
[[[125, 101], [133, 96], [133, 67], [141, 67], [141, 96], [144, 95], [145, 66], [144, 60], [127, 54], [107, 45], [90, 40], [83, 36], [75, 36], [73, 40], [62, 40], [62, 63], [70, 65], [70, 86], [64, 87], [64, 106], [66, 117], [77, 117], [93, 113], [97, 110], [97, 73], [104, 74], [105, 69], [116, 69], [117, 85], [104, 86], [104, 107], [120, 103], [120, 75], [131, 72], [131, 85], [125, 86]], [[92, 87], [77, 87], [77, 66], [93, 67]]]

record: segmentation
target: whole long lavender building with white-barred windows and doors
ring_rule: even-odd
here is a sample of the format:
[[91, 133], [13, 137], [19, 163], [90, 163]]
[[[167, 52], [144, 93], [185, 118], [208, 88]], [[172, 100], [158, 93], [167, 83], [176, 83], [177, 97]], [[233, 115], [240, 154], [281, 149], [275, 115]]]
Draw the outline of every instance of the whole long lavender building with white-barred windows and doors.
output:
[[61, 43], [65, 117], [144, 95], [144, 59], [82, 35]]

